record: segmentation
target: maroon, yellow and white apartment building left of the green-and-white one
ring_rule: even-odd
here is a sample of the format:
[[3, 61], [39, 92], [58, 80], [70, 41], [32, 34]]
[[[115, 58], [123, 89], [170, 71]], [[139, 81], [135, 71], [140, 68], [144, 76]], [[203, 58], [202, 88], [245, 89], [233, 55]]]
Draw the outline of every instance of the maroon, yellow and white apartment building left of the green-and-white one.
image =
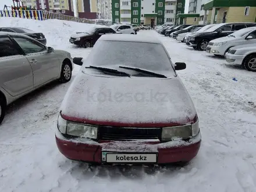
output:
[[77, 0], [78, 16], [86, 19], [111, 19], [111, 0]]

